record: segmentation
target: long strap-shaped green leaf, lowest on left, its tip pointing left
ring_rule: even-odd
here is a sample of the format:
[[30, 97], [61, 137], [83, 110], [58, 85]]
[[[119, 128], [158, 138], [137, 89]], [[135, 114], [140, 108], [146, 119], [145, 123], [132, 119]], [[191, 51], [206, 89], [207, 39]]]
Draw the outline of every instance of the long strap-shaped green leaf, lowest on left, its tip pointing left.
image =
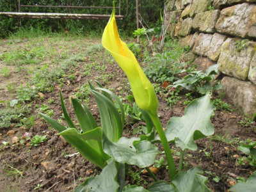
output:
[[[52, 118], [49, 118], [42, 113], [39, 114], [58, 132], [67, 130], [66, 127], [59, 124]], [[77, 136], [63, 136], [63, 138], [72, 146], [74, 146], [82, 156], [88, 159], [88, 161], [91, 161], [93, 164], [100, 166], [100, 168], [104, 168], [105, 161], [107, 160], [106, 157], [102, 156], [102, 154], [95, 150], [95, 148], [93, 148], [91, 145], [86, 143], [86, 141], [81, 140]]]

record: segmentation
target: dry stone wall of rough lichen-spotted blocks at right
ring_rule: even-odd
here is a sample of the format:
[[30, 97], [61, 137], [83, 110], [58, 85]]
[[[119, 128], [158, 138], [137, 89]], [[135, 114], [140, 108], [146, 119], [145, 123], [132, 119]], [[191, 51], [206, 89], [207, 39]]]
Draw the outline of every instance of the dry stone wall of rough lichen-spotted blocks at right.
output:
[[170, 0], [167, 10], [170, 37], [191, 48], [198, 70], [220, 64], [225, 93], [256, 113], [256, 0]]

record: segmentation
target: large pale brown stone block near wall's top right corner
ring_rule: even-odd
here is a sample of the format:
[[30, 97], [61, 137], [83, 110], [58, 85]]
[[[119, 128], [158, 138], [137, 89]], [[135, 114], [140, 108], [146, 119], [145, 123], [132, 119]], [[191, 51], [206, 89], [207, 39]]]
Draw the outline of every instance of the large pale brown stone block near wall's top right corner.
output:
[[221, 10], [215, 28], [219, 33], [256, 38], [256, 5], [243, 3]]

